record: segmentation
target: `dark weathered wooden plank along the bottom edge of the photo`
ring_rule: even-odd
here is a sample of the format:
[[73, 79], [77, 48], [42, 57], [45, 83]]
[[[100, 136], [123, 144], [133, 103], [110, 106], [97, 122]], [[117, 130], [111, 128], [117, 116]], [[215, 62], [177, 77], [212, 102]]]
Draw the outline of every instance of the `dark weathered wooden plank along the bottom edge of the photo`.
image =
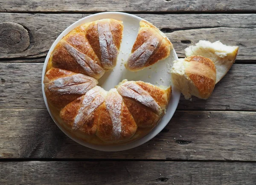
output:
[[1, 184], [205, 185], [256, 183], [250, 162], [1, 162]]

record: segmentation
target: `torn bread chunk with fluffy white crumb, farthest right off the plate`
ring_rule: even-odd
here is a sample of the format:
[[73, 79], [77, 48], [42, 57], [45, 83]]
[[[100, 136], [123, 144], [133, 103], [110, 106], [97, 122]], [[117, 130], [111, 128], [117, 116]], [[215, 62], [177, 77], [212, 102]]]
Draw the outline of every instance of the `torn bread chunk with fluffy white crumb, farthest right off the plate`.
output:
[[185, 49], [186, 57], [203, 56], [211, 59], [216, 67], [216, 84], [227, 74], [230, 67], [236, 60], [238, 46], [226, 46], [220, 41], [211, 43], [206, 40], [199, 40], [195, 46], [189, 46]]

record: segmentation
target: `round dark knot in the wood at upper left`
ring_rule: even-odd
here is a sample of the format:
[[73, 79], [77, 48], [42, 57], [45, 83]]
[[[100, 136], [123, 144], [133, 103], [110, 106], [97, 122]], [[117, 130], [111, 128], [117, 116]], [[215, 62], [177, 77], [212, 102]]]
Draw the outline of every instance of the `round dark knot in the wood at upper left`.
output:
[[0, 23], [1, 52], [16, 53], [26, 50], [29, 46], [28, 31], [17, 23]]

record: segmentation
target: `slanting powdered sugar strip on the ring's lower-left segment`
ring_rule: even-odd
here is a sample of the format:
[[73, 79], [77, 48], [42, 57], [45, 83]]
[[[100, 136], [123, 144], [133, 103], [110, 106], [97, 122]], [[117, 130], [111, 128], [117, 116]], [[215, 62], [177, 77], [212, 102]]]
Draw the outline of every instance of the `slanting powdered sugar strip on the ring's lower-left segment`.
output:
[[81, 107], [76, 115], [76, 118], [74, 119], [74, 130], [83, 126], [91, 114], [104, 102], [105, 94], [106, 92], [104, 89], [96, 86], [84, 95]]

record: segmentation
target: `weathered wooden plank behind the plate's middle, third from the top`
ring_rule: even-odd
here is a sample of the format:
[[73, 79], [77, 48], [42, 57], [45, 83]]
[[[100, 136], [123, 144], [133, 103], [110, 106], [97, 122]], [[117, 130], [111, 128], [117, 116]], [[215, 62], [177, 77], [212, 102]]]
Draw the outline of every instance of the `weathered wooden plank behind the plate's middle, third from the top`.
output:
[[[45, 108], [41, 63], [0, 64], [0, 109]], [[180, 99], [178, 110], [256, 110], [255, 64], [234, 64], [207, 100]]]

